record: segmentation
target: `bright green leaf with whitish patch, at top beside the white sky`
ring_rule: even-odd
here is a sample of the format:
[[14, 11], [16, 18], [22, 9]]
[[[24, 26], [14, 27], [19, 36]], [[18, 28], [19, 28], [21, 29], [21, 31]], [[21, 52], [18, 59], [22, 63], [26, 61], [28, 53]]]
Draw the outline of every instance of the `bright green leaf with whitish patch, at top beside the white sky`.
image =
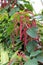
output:
[[17, 4], [21, 5], [21, 8], [23, 7], [22, 9], [25, 9], [25, 7], [26, 7], [26, 9], [28, 9], [30, 11], [33, 11], [33, 7], [32, 7], [32, 5], [30, 4], [29, 1], [26, 1], [26, 0], [17, 0]]

